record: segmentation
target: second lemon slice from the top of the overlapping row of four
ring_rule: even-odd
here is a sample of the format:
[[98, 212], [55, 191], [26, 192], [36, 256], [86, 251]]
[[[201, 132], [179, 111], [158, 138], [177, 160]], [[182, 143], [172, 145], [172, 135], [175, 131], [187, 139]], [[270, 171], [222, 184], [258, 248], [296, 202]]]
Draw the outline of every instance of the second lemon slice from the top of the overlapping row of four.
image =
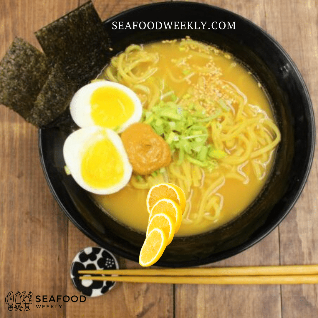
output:
[[151, 208], [149, 221], [155, 214], [158, 214], [158, 213], [168, 214], [176, 226], [175, 233], [178, 232], [179, 227], [181, 225], [181, 221], [182, 221], [182, 211], [181, 211], [180, 205], [177, 204], [176, 201], [173, 201], [171, 199], [166, 199], [166, 198], [160, 199], [159, 201], [157, 201], [154, 204], [154, 206]]

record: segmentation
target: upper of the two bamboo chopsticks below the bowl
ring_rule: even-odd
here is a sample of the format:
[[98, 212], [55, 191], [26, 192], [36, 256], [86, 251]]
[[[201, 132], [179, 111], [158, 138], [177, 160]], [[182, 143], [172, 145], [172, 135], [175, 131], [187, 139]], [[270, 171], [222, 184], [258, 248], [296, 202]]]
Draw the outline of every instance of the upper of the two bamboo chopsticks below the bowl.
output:
[[268, 276], [312, 274], [318, 275], [318, 265], [81, 270], [78, 271], [78, 273], [126, 276]]

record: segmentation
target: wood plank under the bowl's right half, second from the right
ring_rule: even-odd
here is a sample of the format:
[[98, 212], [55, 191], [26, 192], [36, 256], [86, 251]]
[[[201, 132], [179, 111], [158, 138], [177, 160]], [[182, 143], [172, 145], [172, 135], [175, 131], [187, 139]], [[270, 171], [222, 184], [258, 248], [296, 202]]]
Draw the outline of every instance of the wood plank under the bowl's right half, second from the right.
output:
[[[263, 1], [205, 1], [266, 28]], [[279, 265], [278, 230], [257, 245], [213, 266]], [[210, 265], [211, 266], [211, 265]], [[176, 285], [175, 317], [281, 317], [280, 286]]]

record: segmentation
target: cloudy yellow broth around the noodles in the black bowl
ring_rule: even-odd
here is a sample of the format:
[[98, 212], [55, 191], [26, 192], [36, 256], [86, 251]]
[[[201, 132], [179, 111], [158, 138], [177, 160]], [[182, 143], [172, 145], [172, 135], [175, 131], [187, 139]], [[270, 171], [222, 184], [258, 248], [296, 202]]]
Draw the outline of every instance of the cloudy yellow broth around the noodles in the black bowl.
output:
[[[155, 89], [153, 89], [154, 82], [164, 83], [164, 87], [160, 92], [161, 96], [173, 91], [173, 94], [180, 99], [187, 93], [189, 87], [197, 85], [200, 76], [207, 76], [202, 73], [204, 70], [201, 70], [201, 73], [195, 72], [195, 74], [187, 80], [181, 81], [189, 72], [190, 74], [193, 72], [194, 68], [192, 66], [196, 66], [197, 69], [200, 69], [200, 67], [204, 68], [207, 64], [207, 59], [206, 57], [199, 56], [200, 54], [190, 54], [191, 56], [189, 58], [189, 52], [180, 50], [178, 43], [179, 42], [176, 41], [164, 41], [164, 43], [157, 42], [143, 45], [144, 51], [154, 53], [158, 56], [158, 61], [155, 63], [157, 68], [156, 72], [142, 82], [143, 85], [149, 87], [150, 95], [156, 94]], [[199, 52], [201, 51], [199, 50]], [[266, 94], [252, 73], [246, 70], [245, 67], [241, 66], [227, 53], [214, 50], [211, 52], [211, 55], [213, 56], [214, 70], [215, 72], [219, 72], [219, 79], [237, 86], [237, 88], [245, 94], [248, 104], [258, 106], [260, 112], [266, 112], [266, 116], [273, 120], [273, 114]], [[190, 70], [187, 70], [189, 66]], [[185, 70], [187, 70], [187, 72], [185, 72]], [[143, 63], [135, 74], [139, 75], [147, 71], [149, 71], [149, 64]], [[173, 79], [169, 72], [173, 74]], [[100, 75], [100, 78], [109, 79], [105, 71]], [[129, 83], [125, 82], [124, 79], [121, 83], [129, 86]], [[130, 87], [134, 89], [134, 87]], [[151, 97], [147, 100], [144, 92], [138, 89], [134, 90], [142, 100], [143, 107], [149, 107]], [[237, 112], [238, 105], [233, 103], [233, 109]], [[218, 167], [211, 171], [211, 173], [204, 171], [204, 180], [200, 180], [199, 186], [195, 187], [192, 185], [190, 191], [186, 188], [185, 184], [178, 184], [176, 182], [177, 185], [185, 190], [188, 205], [189, 202], [191, 202], [191, 208], [189, 211], [188, 206], [188, 211], [184, 213], [183, 222], [175, 236], [189, 236], [209, 231], [224, 225], [244, 211], [264, 186], [273, 163], [273, 153], [274, 150], [269, 151], [266, 156], [263, 155], [262, 157], [263, 162], [265, 162], [262, 178], [258, 178], [256, 174], [253, 173], [252, 160], [247, 160], [240, 165], [239, 172], [241, 176], [245, 176], [245, 182], [231, 177], [225, 178], [224, 184], [220, 184], [219, 189], [214, 191], [213, 195], [219, 197], [218, 203], [221, 207], [221, 213], [218, 219], [211, 220], [211, 218], [202, 218], [199, 222], [196, 222], [196, 213], [204, 191], [216, 179], [216, 177], [213, 176], [229, 175], [229, 168], [225, 167], [226, 164], [225, 166], [221, 165], [221, 162], [218, 161]], [[258, 160], [258, 157], [255, 160]], [[202, 169], [200, 169], [200, 171], [202, 172]], [[169, 182], [171, 181], [169, 180]], [[147, 193], [148, 189], [136, 189], [131, 183], [128, 183], [126, 187], [117, 193], [104, 196], [93, 195], [93, 197], [107, 213], [120, 223], [137, 231], [146, 232], [149, 217], [146, 208]], [[191, 199], [189, 200], [190, 196]]]

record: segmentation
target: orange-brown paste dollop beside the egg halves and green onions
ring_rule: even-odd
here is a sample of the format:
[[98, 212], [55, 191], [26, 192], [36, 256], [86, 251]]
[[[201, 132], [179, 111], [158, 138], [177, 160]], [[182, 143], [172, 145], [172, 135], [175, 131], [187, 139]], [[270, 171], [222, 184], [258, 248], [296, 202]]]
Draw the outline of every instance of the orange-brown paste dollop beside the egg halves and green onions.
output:
[[130, 125], [121, 134], [129, 162], [138, 175], [149, 175], [171, 161], [169, 145], [150, 125], [141, 122]]

